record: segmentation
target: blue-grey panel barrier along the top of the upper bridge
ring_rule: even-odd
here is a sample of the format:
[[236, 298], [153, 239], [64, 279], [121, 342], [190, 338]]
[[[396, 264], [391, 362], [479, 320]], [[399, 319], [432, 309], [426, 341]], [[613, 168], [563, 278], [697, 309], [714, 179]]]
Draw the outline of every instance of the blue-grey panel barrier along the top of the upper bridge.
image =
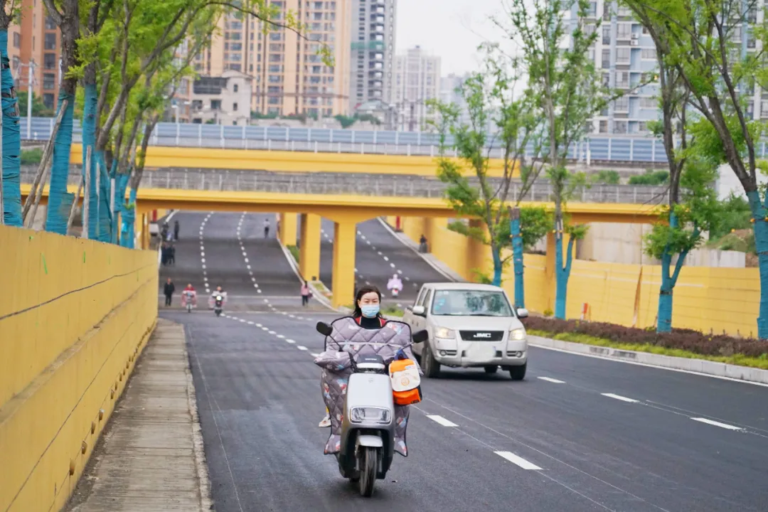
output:
[[[22, 117], [25, 140], [48, 140], [54, 120], [33, 117], [27, 137], [27, 118]], [[81, 140], [80, 122], [75, 121], [74, 141]], [[449, 144], [451, 142], [449, 137]], [[290, 150], [315, 153], [393, 154], [432, 156], [438, 153], [436, 134], [406, 131], [329, 130], [216, 124], [158, 123], [151, 145], [170, 147], [216, 147], [246, 150]], [[758, 148], [766, 155], [766, 144]], [[528, 156], [533, 147], [527, 148]], [[490, 147], [492, 157], [502, 157], [502, 147]], [[660, 141], [633, 135], [594, 136], [574, 143], [569, 152], [574, 161], [616, 164], [664, 164], [667, 155]]]

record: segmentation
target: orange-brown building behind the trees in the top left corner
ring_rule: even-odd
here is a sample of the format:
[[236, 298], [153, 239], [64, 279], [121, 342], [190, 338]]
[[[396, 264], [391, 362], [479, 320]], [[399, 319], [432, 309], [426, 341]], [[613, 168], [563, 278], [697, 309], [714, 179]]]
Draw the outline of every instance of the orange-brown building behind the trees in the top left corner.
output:
[[53, 20], [45, 15], [43, 0], [21, 3], [21, 24], [8, 28], [8, 58], [16, 91], [22, 94], [28, 90], [31, 66], [32, 91], [46, 107], [53, 109], [61, 81], [61, 35]]

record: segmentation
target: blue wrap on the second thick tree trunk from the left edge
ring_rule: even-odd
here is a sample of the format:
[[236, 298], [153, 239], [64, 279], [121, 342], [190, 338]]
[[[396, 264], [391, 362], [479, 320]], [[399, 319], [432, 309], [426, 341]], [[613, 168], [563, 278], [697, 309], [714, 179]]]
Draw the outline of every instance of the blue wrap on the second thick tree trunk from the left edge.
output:
[[69, 154], [72, 148], [72, 124], [74, 122], [74, 97], [59, 91], [56, 114], [61, 111], [61, 104], [67, 101], [67, 108], [61, 117], [61, 124], [53, 144], [51, 164], [51, 188], [48, 193], [48, 216], [45, 230], [60, 235], [67, 234], [67, 220], [74, 194], [67, 192], [69, 179]]

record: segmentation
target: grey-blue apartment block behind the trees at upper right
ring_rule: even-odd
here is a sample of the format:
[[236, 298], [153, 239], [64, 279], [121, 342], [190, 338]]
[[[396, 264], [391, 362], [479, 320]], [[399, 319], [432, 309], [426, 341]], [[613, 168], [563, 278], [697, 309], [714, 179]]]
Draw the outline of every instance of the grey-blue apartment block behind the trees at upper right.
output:
[[[766, 0], [768, 5], [768, 0]], [[574, 6], [572, 16], [577, 14]], [[600, 35], [590, 58], [602, 70], [603, 83], [624, 91], [620, 97], [594, 118], [593, 133], [648, 134], [647, 122], [660, 117], [658, 84], [654, 82], [657, 56], [654, 41], [632, 17], [630, 9], [612, 0], [591, 2], [592, 19], [601, 18]], [[750, 23], [763, 22], [763, 8], [756, 5], [747, 14]], [[593, 29], [594, 28], [594, 25]], [[743, 53], [756, 51], [756, 41], [749, 30], [734, 31], [734, 42], [742, 43]], [[768, 119], [768, 91], [752, 87], [747, 112], [754, 119]]]

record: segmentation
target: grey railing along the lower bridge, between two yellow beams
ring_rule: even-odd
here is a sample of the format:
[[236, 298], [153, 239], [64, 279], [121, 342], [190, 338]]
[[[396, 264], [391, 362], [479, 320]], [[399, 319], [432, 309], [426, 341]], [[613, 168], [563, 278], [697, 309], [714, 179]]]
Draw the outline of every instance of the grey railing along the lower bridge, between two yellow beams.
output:
[[[35, 167], [22, 167], [22, 183], [31, 183]], [[80, 171], [70, 174], [77, 185]], [[472, 183], [473, 180], [470, 180]], [[498, 186], [500, 181], [492, 179]], [[141, 187], [173, 190], [227, 190], [271, 193], [339, 194], [382, 197], [445, 197], [445, 183], [435, 178], [351, 173], [270, 173], [251, 170], [159, 169], [147, 170]], [[513, 181], [508, 200], [518, 200], [520, 183]], [[523, 200], [548, 202], [552, 187], [541, 180]], [[574, 202], [657, 204], [667, 201], [666, 187], [639, 185], [594, 185], [578, 190]]]

